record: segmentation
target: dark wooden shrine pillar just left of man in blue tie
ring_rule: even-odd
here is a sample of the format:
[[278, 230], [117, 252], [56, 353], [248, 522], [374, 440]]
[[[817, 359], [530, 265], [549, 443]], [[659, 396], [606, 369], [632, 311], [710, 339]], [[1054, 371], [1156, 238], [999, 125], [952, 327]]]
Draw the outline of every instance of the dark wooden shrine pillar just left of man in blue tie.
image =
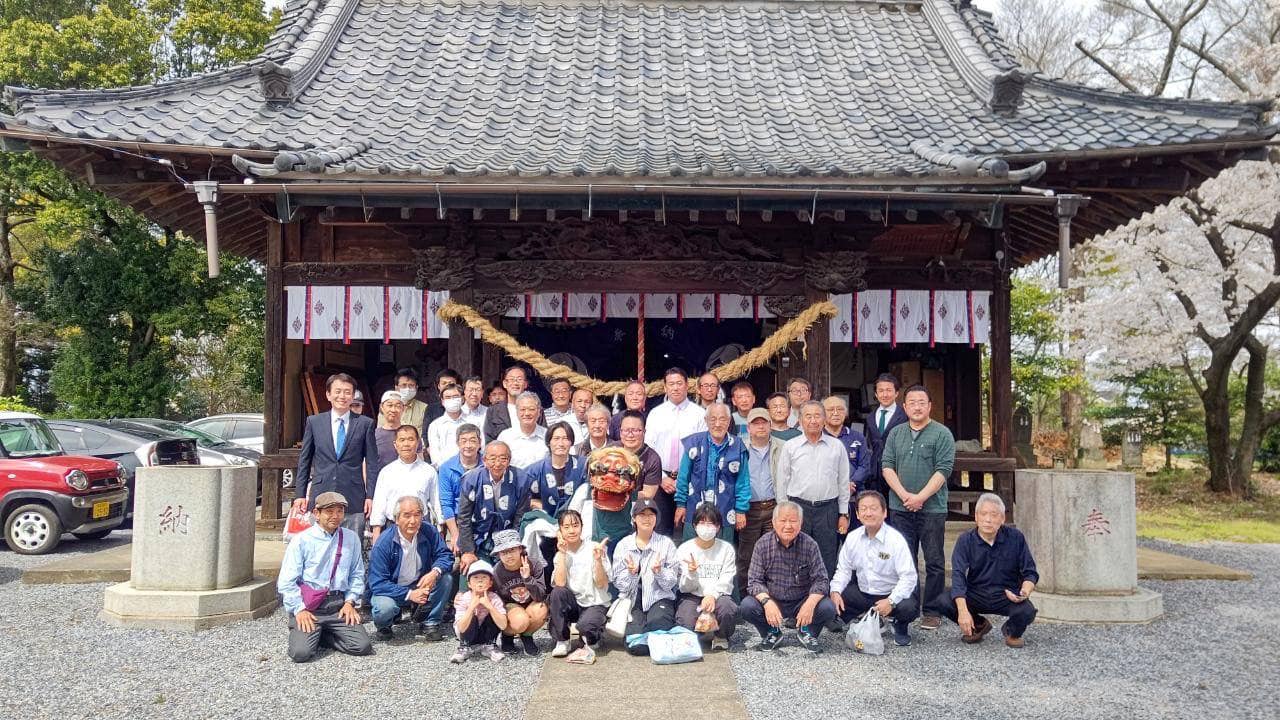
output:
[[[284, 436], [284, 228], [279, 223], [266, 227], [266, 296], [264, 307], [262, 352], [262, 454], [280, 450]], [[260, 469], [262, 480], [262, 519], [280, 518], [280, 470]]]

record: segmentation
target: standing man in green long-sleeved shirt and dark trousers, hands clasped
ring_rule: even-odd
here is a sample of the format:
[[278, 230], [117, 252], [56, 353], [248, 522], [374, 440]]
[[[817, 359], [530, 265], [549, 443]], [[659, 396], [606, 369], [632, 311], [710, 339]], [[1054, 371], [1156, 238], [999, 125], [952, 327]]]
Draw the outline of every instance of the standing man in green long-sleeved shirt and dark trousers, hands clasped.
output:
[[[905, 406], [908, 421], [890, 430], [881, 456], [884, 482], [892, 491], [888, 524], [906, 538], [913, 560], [918, 560], [920, 548], [924, 550], [920, 628], [937, 630], [946, 610], [942, 544], [947, 527], [947, 478], [955, 465], [956, 443], [946, 425], [929, 419], [932, 405], [924, 386], [908, 388]], [[915, 568], [919, 571], [918, 561]]]

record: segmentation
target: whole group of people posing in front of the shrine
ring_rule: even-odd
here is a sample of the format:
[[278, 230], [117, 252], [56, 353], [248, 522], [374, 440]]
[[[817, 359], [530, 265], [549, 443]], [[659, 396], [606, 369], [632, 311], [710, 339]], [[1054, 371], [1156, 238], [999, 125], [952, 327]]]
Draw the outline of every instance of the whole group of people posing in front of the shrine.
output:
[[[296, 506], [315, 523], [291, 541], [279, 577], [291, 659], [307, 661], [320, 644], [372, 652], [360, 606], [379, 639], [407, 620], [440, 641], [452, 619], [454, 662], [536, 655], [544, 626], [553, 656], [593, 662], [607, 623], [625, 626], [634, 653], [648, 652], [646, 633], [676, 625], [727, 647], [740, 620], [760, 650], [794, 626], [818, 652], [823, 629], [868, 612], [892, 624], [900, 646], [922, 614], [920, 628], [947, 618], [969, 643], [991, 630], [986, 614], [1007, 615], [1005, 643], [1021, 647], [1038, 575], [998, 496], [977, 501], [945, 592], [955, 442], [931, 419], [924, 387], [906, 388], [900, 405], [899, 380], [878, 377], [864, 436], [846, 425], [844, 398], [814, 400], [803, 379], [765, 407], [739, 382], [731, 407], [714, 374], [696, 379], [691, 398], [690, 378], [671, 369], [662, 404], [646, 413], [635, 382], [616, 414], [562, 380], [544, 409], [527, 379], [507, 369], [506, 398], [486, 409], [479, 379], [442, 382], [443, 414], [430, 420], [424, 407], [417, 424], [406, 413], [419, 401], [397, 391], [378, 428], [351, 411], [352, 378], [328, 379], [332, 410], [307, 419], [297, 470]], [[376, 430], [397, 402], [384, 460]], [[433, 432], [443, 419], [447, 441]]]

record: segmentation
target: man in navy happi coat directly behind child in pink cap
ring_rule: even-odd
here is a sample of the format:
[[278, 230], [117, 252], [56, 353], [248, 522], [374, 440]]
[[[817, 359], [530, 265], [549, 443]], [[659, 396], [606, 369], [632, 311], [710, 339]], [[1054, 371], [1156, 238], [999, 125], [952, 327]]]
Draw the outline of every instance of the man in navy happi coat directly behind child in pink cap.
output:
[[493, 534], [518, 530], [531, 497], [529, 477], [511, 466], [511, 448], [500, 439], [490, 442], [484, 448], [484, 465], [462, 475], [458, 488], [456, 518], [463, 573], [477, 559], [494, 561]]

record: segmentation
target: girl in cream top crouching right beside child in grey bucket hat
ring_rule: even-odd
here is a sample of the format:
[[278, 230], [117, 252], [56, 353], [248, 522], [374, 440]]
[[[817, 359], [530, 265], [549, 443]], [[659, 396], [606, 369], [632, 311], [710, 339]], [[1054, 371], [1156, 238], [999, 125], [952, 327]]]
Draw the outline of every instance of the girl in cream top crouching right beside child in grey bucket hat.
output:
[[568, 625], [576, 621], [585, 644], [568, 660], [582, 665], [595, 662], [593, 646], [600, 642], [609, 609], [607, 544], [608, 538], [600, 543], [582, 541], [582, 515], [576, 510], [561, 515], [552, 573], [550, 625], [556, 639], [552, 657], [570, 655]]

